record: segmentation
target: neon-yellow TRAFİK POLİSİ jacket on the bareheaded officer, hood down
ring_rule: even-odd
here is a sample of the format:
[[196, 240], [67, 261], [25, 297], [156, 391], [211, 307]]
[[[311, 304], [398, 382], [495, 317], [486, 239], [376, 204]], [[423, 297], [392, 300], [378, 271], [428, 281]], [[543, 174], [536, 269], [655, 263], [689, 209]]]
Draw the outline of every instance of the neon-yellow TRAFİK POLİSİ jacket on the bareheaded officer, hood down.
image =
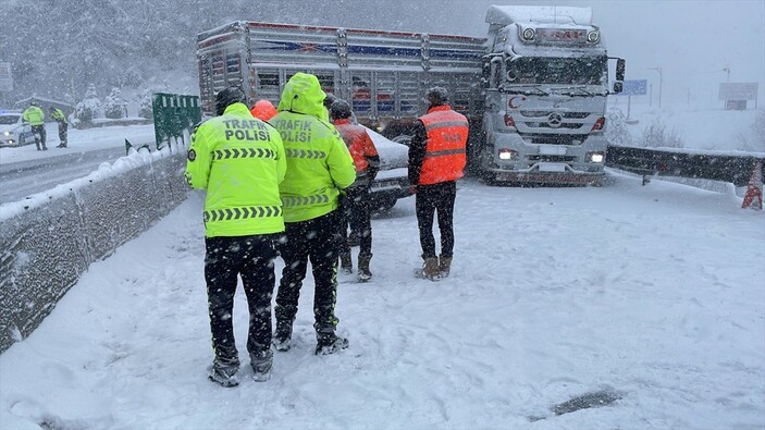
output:
[[207, 189], [207, 237], [283, 232], [279, 183], [286, 169], [279, 133], [252, 118], [244, 103], [199, 125], [192, 135], [186, 181]]

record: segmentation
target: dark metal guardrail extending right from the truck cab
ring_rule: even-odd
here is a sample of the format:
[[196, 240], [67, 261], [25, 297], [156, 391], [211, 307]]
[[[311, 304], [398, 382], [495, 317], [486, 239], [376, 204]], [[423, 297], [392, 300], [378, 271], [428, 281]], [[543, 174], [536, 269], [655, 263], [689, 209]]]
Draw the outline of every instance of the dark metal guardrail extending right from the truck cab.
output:
[[749, 183], [757, 162], [765, 167], [765, 157], [699, 153], [610, 145], [606, 156], [607, 167], [643, 176], [713, 180], [730, 182], [736, 186], [745, 186]]

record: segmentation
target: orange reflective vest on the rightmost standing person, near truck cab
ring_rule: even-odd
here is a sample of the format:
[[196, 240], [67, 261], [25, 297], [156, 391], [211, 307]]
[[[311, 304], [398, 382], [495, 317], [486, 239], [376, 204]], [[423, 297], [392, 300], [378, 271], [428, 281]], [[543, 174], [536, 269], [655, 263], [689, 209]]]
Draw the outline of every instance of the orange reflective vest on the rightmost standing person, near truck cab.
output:
[[420, 169], [420, 185], [457, 181], [462, 177], [468, 142], [468, 119], [448, 105], [436, 106], [419, 118], [425, 126], [428, 142]]

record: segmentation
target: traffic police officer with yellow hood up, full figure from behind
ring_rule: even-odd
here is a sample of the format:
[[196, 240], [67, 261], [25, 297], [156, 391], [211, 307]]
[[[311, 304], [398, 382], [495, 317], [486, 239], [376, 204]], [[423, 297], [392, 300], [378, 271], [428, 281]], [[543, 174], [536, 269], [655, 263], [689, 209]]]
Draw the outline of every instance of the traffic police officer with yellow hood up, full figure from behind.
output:
[[316, 354], [348, 346], [335, 329], [337, 257], [341, 214], [337, 196], [356, 179], [354, 160], [335, 127], [328, 122], [319, 79], [297, 73], [284, 86], [279, 114], [270, 123], [279, 131], [287, 155], [287, 174], [279, 186], [284, 205], [285, 237], [280, 243], [284, 271], [276, 293], [277, 351], [288, 351], [300, 286], [308, 261], [313, 272]]

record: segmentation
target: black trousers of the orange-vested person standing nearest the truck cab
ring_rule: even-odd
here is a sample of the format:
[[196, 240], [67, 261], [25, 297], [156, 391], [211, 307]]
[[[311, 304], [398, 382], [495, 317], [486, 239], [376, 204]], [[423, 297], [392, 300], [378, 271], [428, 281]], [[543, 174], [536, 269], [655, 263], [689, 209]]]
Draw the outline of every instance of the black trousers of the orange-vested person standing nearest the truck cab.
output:
[[415, 195], [417, 226], [420, 230], [422, 258], [435, 257], [435, 238], [433, 238], [433, 213], [439, 218], [441, 232], [441, 255], [452, 257], [454, 253], [454, 200], [457, 196], [455, 181], [433, 185], [418, 185]]

